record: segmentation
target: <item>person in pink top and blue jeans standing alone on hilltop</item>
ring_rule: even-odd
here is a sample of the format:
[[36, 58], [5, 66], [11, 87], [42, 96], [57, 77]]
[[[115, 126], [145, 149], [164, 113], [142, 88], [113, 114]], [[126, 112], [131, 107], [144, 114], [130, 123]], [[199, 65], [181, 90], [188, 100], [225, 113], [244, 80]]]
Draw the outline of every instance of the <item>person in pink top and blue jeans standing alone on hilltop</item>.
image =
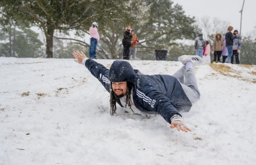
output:
[[98, 41], [100, 40], [100, 36], [98, 33], [98, 25], [97, 22], [93, 22], [92, 26], [89, 29], [89, 33], [91, 36], [91, 44], [90, 44], [90, 49], [89, 49], [89, 57], [90, 58], [96, 58], [96, 50], [97, 50], [97, 45]]

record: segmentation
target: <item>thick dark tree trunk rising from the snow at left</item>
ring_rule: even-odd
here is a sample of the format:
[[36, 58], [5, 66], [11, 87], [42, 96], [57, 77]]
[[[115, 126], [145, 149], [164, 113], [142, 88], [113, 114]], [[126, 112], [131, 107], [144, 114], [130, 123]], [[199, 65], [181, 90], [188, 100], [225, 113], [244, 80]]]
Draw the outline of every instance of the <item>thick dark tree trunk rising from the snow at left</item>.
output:
[[46, 37], [46, 58], [53, 58], [53, 25], [47, 26], [47, 35]]

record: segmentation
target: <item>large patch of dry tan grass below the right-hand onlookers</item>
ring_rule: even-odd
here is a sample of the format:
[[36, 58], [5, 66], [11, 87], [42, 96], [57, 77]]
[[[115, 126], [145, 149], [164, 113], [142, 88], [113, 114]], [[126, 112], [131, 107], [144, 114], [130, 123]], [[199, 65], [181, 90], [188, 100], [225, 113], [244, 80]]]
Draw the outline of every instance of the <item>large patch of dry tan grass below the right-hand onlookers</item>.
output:
[[[238, 65], [239, 67], [247, 67], [247, 68], [252, 68], [255, 67], [254, 65]], [[253, 82], [256, 83], [256, 78], [247, 78], [242, 76], [242, 72], [239, 70], [235, 70], [232, 67], [225, 65], [225, 64], [210, 64], [210, 67], [214, 69], [216, 72], [224, 75], [224, 76], [229, 76], [233, 78], [238, 78], [243, 81], [247, 82]], [[249, 72], [251, 75], [256, 75], [255, 71]]]

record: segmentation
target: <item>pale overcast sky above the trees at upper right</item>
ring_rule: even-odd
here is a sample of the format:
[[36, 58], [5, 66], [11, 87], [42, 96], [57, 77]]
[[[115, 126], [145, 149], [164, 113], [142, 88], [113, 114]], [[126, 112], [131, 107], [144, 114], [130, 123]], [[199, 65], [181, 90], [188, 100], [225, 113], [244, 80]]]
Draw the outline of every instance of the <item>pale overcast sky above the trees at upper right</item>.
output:
[[[183, 6], [186, 15], [218, 17], [229, 20], [234, 29], [240, 30], [243, 0], [172, 0]], [[256, 0], [245, 0], [242, 16], [242, 35], [250, 35], [256, 26]], [[240, 32], [239, 32], [240, 33]]]

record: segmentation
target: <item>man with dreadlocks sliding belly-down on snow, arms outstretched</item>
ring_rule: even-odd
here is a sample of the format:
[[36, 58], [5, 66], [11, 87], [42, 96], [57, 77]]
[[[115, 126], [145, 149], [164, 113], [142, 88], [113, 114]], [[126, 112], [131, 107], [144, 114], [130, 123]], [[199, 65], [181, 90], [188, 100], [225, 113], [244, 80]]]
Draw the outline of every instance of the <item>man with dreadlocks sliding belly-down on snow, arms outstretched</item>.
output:
[[170, 128], [191, 131], [183, 122], [179, 112], [188, 112], [193, 102], [199, 100], [193, 65], [202, 64], [197, 55], [179, 57], [184, 66], [173, 76], [144, 75], [133, 69], [127, 61], [116, 60], [107, 69], [102, 64], [89, 59], [83, 52], [73, 52], [76, 62], [83, 64], [110, 93], [111, 115], [116, 113], [116, 103], [127, 107], [130, 112], [160, 114]]

